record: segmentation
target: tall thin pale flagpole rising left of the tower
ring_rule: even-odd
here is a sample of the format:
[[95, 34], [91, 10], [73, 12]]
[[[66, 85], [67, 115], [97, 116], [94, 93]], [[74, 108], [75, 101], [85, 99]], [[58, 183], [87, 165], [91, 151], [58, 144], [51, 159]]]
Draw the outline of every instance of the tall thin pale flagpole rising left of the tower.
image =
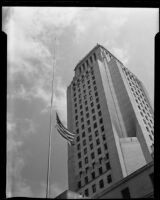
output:
[[[56, 46], [56, 38], [55, 38]], [[55, 48], [54, 48], [55, 49]], [[53, 71], [52, 71], [52, 91], [51, 91], [51, 107], [50, 107], [50, 132], [49, 132], [49, 148], [48, 148], [48, 166], [47, 166], [47, 186], [46, 198], [50, 196], [50, 170], [51, 170], [51, 150], [52, 150], [52, 131], [53, 131], [53, 98], [54, 98], [54, 76], [55, 76], [56, 55], [53, 53]]]

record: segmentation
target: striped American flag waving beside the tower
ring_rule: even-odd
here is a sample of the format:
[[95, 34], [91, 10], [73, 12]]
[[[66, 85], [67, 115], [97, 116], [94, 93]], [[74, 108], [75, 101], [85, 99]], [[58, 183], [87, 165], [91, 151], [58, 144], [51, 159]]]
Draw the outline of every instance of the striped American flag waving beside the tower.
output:
[[75, 133], [70, 132], [64, 125], [62, 124], [61, 120], [59, 119], [58, 114], [56, 113], [56, 128], [60, 135], [65, 138], [70, 145], [74, 144]]

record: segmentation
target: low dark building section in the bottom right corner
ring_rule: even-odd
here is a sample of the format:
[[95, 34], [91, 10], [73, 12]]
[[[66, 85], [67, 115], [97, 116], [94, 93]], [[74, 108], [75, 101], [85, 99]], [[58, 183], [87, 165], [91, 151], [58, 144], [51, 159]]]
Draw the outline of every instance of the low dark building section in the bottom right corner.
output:
[[154, 198], [153, 161], [112, 186], [95, 195], [93, 199]]

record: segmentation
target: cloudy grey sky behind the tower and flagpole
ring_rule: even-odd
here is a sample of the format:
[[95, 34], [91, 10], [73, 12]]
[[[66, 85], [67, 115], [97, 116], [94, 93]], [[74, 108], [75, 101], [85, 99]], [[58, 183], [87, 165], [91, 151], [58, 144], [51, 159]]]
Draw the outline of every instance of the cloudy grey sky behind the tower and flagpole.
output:
[[[3, 7], [2, 24], [8, 37], [6, 195], [45, 197], [54, 55], [53, 105], [65, 126], [74, 68], [97, 43], [137, 75], [153, 105], [158, 9]], [[68, 189], [67, 142], [55, 129], [52, 147], [53, 198]]]

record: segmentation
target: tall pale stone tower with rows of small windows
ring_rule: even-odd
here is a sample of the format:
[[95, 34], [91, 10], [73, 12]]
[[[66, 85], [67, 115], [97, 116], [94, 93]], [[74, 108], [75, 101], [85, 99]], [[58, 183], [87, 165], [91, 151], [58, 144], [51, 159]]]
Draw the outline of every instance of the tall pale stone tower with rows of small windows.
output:
[[154, 113], [142, 82], [97, 44], [67, 88], [69, 189], [94, 197], [153, 161]]

